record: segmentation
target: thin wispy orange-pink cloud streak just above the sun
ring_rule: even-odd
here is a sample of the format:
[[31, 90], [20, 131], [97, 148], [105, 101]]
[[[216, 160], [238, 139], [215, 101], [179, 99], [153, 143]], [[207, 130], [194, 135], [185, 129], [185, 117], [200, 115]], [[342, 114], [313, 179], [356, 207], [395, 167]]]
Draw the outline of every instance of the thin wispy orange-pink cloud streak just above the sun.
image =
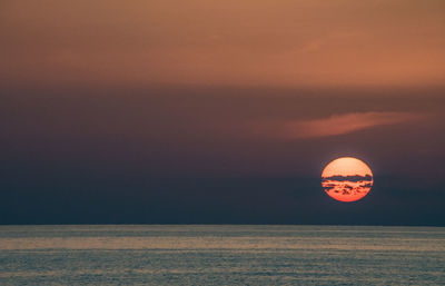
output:
[[409, 112], [355, 112], [333, 115], [320, 119], [287, 121], [278, 129], [280, 135], [286, 138], [328, 137], [419, 118], [419, 115]]

